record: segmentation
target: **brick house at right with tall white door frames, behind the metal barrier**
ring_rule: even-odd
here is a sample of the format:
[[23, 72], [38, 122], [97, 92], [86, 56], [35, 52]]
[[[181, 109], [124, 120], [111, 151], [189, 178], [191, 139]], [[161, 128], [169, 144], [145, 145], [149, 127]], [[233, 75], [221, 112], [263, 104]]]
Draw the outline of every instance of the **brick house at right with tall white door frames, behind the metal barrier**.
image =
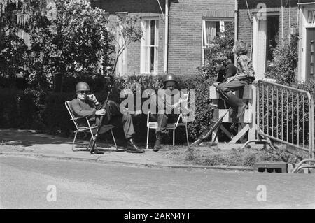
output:
[[253, 66], [258, 78], [264, 78], [271, 48], [276, 39], [298, 33], [297, 79], [314, 75], [315, 1], [313, 0], [235, 0], [236, 36], [251, 46]]

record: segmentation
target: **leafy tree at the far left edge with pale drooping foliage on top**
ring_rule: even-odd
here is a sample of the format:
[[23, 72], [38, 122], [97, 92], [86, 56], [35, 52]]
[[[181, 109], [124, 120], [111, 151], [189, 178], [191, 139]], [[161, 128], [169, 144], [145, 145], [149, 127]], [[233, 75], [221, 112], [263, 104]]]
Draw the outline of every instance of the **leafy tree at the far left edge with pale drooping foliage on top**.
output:
[[31, 15], [41, 16], [39, 10], [39, 0], [0, 0], [1, 87], [13, 87], [17, 74], [25, 71], [29, 49], [18, 33], [29, 31]]

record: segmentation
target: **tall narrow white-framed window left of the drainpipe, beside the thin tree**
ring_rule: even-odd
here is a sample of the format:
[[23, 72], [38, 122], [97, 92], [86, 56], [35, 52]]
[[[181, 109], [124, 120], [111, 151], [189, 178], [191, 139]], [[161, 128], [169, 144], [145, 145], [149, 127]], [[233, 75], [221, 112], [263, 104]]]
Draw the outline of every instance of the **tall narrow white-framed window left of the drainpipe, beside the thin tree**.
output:
[[158, 74], [158, 20], [143, 19], [142, 29], [140, 72]]

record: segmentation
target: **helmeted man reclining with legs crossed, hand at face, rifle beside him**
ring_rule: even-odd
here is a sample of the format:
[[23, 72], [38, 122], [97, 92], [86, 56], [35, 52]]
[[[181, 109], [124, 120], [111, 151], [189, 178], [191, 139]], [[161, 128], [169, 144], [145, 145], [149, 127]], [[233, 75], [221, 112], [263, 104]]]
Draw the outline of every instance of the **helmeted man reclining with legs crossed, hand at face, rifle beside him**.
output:
[[[132, 123], [132, 116], [129, 113], [120, 113], [120, 106], [118, 103], [109, 100], [106, 108], [97, 101], [94, 94], [90, 93], [90, 87], [86, 82], [78, 82], [76, 85], [76, 99], [71, 101], [71, 108], [76, 117], [89, 117], [91, 122], [96, 122], [95, 117], [105, 115], [103, 124], [112, 124], [116, 127], [123, 127], [125, 138], [127, 139], [127, 152], [142, 153], [141, 150], [134, 143], [133, 134], [134, 125]], [[99, 120], [99, 119], [97, 119]]]

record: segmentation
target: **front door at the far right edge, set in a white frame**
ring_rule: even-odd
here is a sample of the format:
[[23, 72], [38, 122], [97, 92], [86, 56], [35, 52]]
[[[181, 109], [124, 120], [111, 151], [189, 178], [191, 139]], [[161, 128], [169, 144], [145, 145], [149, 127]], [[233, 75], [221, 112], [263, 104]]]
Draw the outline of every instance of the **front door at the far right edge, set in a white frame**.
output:
[[314, 77], [315, 62], [314, 62], [314, 44], [315, 44], [315, 28], [307, 29], [307, 45], [306, 45], [306, 80]]

